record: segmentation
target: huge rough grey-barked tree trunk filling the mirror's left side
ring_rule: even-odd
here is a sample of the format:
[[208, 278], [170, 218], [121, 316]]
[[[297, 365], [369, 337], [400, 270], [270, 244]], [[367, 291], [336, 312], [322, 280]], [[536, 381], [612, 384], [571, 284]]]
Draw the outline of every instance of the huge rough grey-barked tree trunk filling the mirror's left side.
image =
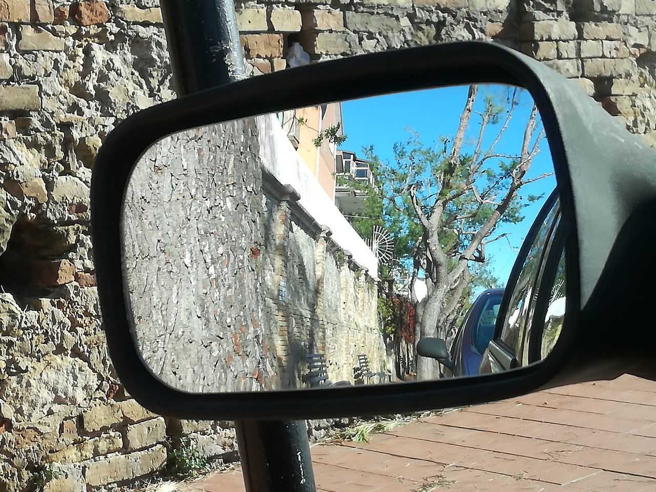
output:
[[248, 120], [168, 136], [126, 195], [136, 337], [161, 380], [190, 392], [278, 386], [262, 277], [260, 159]]

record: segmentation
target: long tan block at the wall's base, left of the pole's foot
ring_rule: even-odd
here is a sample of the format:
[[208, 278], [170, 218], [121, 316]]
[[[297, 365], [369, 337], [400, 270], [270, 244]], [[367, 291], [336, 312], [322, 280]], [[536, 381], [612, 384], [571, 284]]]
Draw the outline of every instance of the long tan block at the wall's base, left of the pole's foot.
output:
[[127, 455], [114, 453], [86, 466], [85, 480], [92, 487], [133, 480], [158, 470], [166, 462], [166, 448], [157, 445]]

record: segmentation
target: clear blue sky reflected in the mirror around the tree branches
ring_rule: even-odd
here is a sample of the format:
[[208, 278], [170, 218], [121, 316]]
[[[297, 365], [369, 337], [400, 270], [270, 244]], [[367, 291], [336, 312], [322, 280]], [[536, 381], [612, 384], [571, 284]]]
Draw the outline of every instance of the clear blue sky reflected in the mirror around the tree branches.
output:
[[[394, 157], [392, 146], [396, 142], [405, 142], [407, 140], [410, 136], [408, 128], [419, 132], [423, 144], [433, 144], [441, 135], [453, 137], [464, 108], [467, 91], [467, 86], [442, 87], [342, 102], [344, 133], [348, 136], [348, 139], [342, 144], [341, 148], [362, 155], [363, 147], [373, 146], [375, 154], [379, 156], [382, 162], [391, 162]], [[504, 87], [482, 85], [478, 92], [477, 104], [474, 106], [474, 110], [482, 110], [483, 94], [485, 92], [503, 94], [504, 98], [506, 94]], [[530, 94], [527, 91], [522, 91], [520, 105], [515, 108], [510, 125], [508, 125], [508, 129], [506, 129], [495, 148], [495, 152], [499, 154], [519, 154], [523, 132], [532, 105], [533, 100]], [[502, 115], [503, 118], [504, 115]], [[473, 139], [478, 134], [478, 121], [480, 121], [480, 118], [472, 115], [468, 133], [470, 138], [466, 139], [472, 140], [472, 142], [469, 146], [464, 146], [464, 151], [473, 149]], [[486, 144], [489, 145], [493, 141], [500, 127], [501, 124], [497, 127], [489, 127], [483, 140], [483, 151], [487, 148]], [[546, 138], [543, 138], [540, 148], [541, 152], [533, 160], [527, 178], [537, 177], [544, 173], [553, 173]], [[496, 164], [493, 159], [489, 162]], [[499, 239], [490, 243], [485, 249], [485, 253], [489, 258], [487, 262], [489, 268], [499, 278], [501, 285], [505, 284], [510, 275], [512, 264], [517, 256], [516, 250], [522, 245], [522, 241], [533, 220], [535, 220], [544, 199], [554, 189], [555, 185], [556, 178], [548, 176], [523, 187], [522, 192], [525, 194], [539, 195], [544, 193], [545, 196], [542, 200], [523, 209], [525, 219], [520, 224], [502, 224], [497, 228], [497, 232], [491, 236], [496, 237], [502, 233], [508, 234], [509, 241]]]

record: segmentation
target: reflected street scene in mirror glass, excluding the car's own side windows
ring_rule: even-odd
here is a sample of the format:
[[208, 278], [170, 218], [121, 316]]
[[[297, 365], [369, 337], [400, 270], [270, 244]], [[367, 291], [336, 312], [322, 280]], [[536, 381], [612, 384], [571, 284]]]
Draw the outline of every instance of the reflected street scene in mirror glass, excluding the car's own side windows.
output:
[[[537, 108], [510, 86], [331, 102], [167, 136], [125, 196], [138, 349], [188, 392], [476, 375], [555, 184]], [[559, 312], [544, 318], [543, 354]], [[513, 348], [522, 322], [508, 329]], [[418, 356], [420, 338], [443, 340], [448, 358]]]

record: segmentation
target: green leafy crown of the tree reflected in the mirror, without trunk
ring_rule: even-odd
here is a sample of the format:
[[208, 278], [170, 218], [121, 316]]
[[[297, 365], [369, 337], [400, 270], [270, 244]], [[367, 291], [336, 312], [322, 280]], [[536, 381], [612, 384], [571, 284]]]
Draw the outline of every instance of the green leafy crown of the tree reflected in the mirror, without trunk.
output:
[[[352, 218], [352, 224], [363, 237], [370, 237], [373, 226], [382, 226], [394, 241], [394, 258], [405, 267], [415, 266], [423, 270], [432, 281], [436, 280], [433, 258], [428, 251], [428, 237], [437, 241], [447, 258], [447, 272], [462, 261], [462, 252], [471, 244], [474, 233], [488, 222], [493, 226], [485, 235], [495, 234], [499, 224], [515, 224], [524, 219], [523, 209], [541, 199], [542, 195], [526, 194], [523, 189], [510, 194], [518, 167], [522, 165], [522, 139], [514, 154], [497, 154], [490, 146], [478, 146], [477, 142], [489, 143], [480, 137], [483, 123], [485, 131], [494, 136], [502, 132], [506, 119], [512, 117], [512, 108], [520, 104], [521, 89], [500, 92], [490, 89], [483, 94], [482, 103], [474, 106], [474, 112], [465, 129], [459, 152], [453, 155], [454, 136], [440, 135], [426, 144], [413, 129], [406, 129], [408, 138], [392, 146], [392, 158], [383, 162], [373, 146], [362, 149], [363, 158], [370, 163], [375, 184], [340, 176], [340, 184], [367, 195], [361, 217]], [[539, 142], [536, 123], [531, 131], [531, 146]], [[455, 129], [454, 129], [455, 130]], [[479, 141], [480, 138], [480, 141]], [[486, 143], [486, 144], [487, 144]], [[478, 149], [478, 150], [477, 150]], [[524, 161], [525, 162], [525, 161]], [[509, 194], [507, 207], [497, 218], [501, 201]], [[430, 230], [424, 223], [439, 210], [438, 219], [430, 222]], [[422, 223], [424, 220], [424, 223]], [[478, 245], [474, 243], [474, 245]], [[480, 261], [489, 260], [481, 256]], [[498, 285], [498, 280], [481, 263], [468, 260], [470, 285], [461, 293], [465, 304], [480, 287]], [[382, 272], [386, 278], [389, 272]], [[447, 295], [448, 297], [448, 295]]]

